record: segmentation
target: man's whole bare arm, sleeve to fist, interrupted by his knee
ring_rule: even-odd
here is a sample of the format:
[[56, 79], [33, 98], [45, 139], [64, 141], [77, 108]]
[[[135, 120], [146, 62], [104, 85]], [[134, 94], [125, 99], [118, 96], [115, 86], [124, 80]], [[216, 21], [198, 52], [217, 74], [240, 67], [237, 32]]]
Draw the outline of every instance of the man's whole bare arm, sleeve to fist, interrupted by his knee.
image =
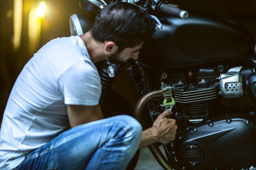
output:
[[[164, 111], [154, 121], [153, 126], [142, 132], [142, 141], [139, 149], [147, 147], [155, 142], [169, 143], [175, 139], [177, 125], [176, 120], [168, 118], [172, 113]], [[100, 105], [76, 106], [68, 105], [68, 119], [70, 127], [82, 125], [103, 118]]]

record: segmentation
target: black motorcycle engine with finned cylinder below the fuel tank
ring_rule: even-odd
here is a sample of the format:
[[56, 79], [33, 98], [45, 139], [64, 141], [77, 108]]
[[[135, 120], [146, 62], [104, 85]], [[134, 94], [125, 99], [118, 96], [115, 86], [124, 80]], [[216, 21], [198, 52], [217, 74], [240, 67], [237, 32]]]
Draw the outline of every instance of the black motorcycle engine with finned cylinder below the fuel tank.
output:
[[[155, 73], [156, 71], [154, 71]], [[256, 117], [232, 107], [223, 98], [243, 96], [242, 67], [216, 74], [214, 68], [181, 72], [161, 70], [159, 77], [172, 89], [172, 112], [178, 125], [174, 142], [164, 145], [169, 162], [179, 169], [246, 169], [255, 167]], [[249, 71], [250, 72], [250, 71]], [[176, 79], [178, 77], [178, 79]], [[154, 84], [154, 78], [150, 79]], [[149, 83], [148, 83], [149, 84]], [[163, 98], [151, 103], [151, 119], [164, 111]]]

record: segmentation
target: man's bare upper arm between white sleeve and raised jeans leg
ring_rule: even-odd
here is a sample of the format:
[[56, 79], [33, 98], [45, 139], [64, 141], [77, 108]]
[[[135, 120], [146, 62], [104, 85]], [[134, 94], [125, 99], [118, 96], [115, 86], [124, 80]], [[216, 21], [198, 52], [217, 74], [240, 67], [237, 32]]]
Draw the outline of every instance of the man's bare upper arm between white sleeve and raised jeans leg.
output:
[[97, 106], [82, 106], [68, 105], [68, 120], [70, 127], [82, 125], [103, 118], [100, 105]]

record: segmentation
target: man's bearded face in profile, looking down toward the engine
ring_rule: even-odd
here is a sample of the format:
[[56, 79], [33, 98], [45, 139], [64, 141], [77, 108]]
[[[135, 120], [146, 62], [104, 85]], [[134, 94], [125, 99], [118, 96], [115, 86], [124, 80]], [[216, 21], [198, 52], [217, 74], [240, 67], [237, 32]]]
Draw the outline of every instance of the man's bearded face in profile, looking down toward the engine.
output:
[[143, 42], [135, 47], [127, 47], [122, 52], [114, 52], [114, 54], [108, 57], [108, 60], [114, 64], [120, 64], [122, 62], [128, 62], [128, 60], [137, 60], [139, 57], [139, 50], [142, 49]]

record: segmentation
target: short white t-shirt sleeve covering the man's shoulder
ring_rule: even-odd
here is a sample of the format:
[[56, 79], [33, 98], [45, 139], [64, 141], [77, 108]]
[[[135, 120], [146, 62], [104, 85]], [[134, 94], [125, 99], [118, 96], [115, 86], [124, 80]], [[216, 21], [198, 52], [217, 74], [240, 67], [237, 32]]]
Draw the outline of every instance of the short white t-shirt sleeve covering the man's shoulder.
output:
[[66, 105], [95, 106], [99, 103], [102, 86], [92, 63], [80, 61], [69, 67], [58, 79]]

